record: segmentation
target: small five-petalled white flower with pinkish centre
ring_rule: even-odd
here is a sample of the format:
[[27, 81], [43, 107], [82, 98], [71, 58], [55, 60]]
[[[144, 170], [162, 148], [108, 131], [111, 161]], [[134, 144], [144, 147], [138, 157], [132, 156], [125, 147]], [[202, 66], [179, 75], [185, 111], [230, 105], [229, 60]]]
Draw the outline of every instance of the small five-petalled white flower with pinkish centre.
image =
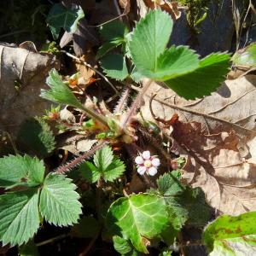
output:
[[158, 166], [160, 166], [160, 159], [156, 155], [151, 156], [148, 150], [138, 155], [135, 162], [137, 164], [137, 172], [140, 175], [146, 172], [148, 175], [154, 176], [157, 173]]

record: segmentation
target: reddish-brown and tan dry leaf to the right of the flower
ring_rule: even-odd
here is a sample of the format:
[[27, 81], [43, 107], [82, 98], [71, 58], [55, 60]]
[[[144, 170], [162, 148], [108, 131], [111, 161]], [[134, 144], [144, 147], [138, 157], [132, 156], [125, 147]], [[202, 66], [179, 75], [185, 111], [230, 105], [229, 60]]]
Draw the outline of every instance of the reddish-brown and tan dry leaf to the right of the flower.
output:
[[218, 213], [256, 210], [256, 164], [241, 157], [234, 131], [207, 135], [200, 123], [177, 120], [172, 137], [172, 150], [187, 159], [183, 179], [201, 187]]

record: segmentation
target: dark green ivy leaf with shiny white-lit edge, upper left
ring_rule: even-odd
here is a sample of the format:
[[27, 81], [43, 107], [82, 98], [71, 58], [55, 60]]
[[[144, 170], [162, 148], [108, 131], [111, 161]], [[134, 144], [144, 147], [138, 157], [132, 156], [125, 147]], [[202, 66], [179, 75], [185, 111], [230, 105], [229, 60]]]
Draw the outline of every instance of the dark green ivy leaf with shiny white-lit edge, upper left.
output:
[[56, 3], [50, 10], [46, 22], [54, 39], [59, 37], [61, 27], [67, 32], [76, 32], [79, 20], [84, 18], [84, 11], [80, 6], [74, 9], [67, 9], [61, 3]]

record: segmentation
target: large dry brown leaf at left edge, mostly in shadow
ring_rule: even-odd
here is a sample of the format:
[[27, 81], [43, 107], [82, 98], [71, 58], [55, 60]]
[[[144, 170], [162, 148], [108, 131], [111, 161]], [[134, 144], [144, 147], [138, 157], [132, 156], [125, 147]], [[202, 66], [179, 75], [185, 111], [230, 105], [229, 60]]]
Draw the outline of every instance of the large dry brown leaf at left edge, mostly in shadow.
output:
[[54, 55], [21, 46], [0, 44], [0, 129], [14, 136], [24, 119], [41, 115], [49, 108], [50, 102], [39, 94], [46, 88], [49, 70], [59, 67]]

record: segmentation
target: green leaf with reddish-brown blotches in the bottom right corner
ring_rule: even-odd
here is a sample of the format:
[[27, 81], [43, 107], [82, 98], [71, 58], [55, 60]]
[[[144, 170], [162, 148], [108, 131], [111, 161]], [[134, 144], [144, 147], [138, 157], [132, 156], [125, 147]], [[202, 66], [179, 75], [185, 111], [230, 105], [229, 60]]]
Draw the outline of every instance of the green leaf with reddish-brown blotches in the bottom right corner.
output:
[[256, 252], [256, 212], [215, 219], [203, 233], [210, 255], [254, 255]]

